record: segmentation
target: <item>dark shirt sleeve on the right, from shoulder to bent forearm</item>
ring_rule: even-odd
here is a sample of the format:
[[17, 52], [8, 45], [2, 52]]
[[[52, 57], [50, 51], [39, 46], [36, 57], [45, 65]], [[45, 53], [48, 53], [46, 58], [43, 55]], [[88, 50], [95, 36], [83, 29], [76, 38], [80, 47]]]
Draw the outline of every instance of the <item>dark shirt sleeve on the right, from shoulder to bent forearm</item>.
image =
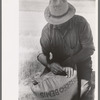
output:
[[84, 20], [84, 22], [81, 22], [79, 26], [79, 40], [82, 49], [79, 53], [72, 57], [74, 63], [80, 63], [86, 60], [94, 53], [95, 50], [91, 28], [86, 20]]

